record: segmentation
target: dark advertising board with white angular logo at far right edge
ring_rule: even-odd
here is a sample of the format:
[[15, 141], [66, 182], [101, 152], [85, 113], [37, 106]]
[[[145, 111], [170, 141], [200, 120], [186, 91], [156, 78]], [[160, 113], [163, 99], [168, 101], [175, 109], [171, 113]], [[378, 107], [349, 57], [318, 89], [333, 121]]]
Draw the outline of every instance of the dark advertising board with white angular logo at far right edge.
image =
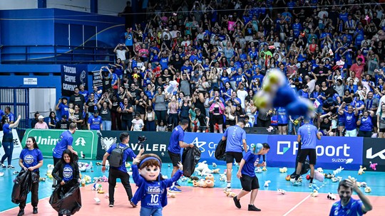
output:
[[385, 171], [385, 139], [364, 138], [362, 166], [366, 167], [366, 171], [373, 171], [369, 168], [370, 163], [377, 163], [376, 171]]

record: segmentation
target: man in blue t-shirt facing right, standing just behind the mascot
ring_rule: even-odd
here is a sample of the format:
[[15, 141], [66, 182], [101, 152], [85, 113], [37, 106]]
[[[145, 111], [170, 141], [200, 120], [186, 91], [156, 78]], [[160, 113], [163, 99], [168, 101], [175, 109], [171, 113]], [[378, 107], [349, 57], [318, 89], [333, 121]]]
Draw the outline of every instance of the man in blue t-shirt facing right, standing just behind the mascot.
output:
[[[183, 139], [185, 139], [185, 129], [188, 128], [189, 121], [187, 119], [183, 119], [180, 121], [180, 125], [175, 126], [173, 132], [171, 133], [170, 143], [168, 144], [168, 155], [170, 156], [171, 162], [173, 163], [173, 172], [171, 172], [171, 176], [179, 170], [178, 163], [180, 160], [180, 149], [187, 147], [194, 147], [194, 144], [186, 144]], [[175, 183], [175, 185], [171, 186], [170, 191], [172, 192], [181, 192], [179, 185]]]

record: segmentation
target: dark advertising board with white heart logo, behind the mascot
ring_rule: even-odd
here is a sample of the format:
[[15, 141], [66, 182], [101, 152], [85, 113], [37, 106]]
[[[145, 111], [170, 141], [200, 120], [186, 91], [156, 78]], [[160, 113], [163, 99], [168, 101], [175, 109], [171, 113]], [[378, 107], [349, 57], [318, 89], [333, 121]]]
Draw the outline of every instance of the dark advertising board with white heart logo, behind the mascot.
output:
[[[119, 143], [120, 133], [127, 131], [100, 131], [98, 132], [98, 156], [97, 159], [103, 159], [104, 153], [111, 145]], [[146, 132], [146, 131], [129, 131], [130, 141], [128, 146], [133, 149], [135, 154], [139, 153], [140, 144], [138, 144], [138, 136], [145, 136], [147, 140], [143, 144], [144, 153], [155, 153], [162, 159], [163, 163], [170, 163], [170, 156], [168, 156], [167, 148], [170, 142], [170, 132]], [[132, 161], [132, 160], [129, 160]]]

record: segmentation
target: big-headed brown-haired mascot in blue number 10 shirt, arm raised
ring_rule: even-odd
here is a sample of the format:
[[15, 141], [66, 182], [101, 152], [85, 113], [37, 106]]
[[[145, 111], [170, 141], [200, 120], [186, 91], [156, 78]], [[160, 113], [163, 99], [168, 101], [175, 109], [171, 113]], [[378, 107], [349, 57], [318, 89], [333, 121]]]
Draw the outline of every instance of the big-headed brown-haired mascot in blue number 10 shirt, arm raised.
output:
[[133, 159], [133, 180], [138, 189], [132, 202], [141, 202], [140, 216], [161, 216], [163, 207], [167, 205], [167, 188], [179, 180], [183, 174], [183, 165], [178, 163], [179, 170], [172, 178], [163, 179], [160, 174], [162, 161], [159, 156], [148, 153]]

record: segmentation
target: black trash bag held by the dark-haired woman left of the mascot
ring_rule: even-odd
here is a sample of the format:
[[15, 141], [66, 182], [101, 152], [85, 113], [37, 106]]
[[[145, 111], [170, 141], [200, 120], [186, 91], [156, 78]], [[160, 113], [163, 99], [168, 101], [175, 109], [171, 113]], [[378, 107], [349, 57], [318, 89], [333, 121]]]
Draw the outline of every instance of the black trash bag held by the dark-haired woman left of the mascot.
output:
[[60, 183], [49, 198], [49, 204], [56, 212], [62, 215], [74, 215], [81, 209], [80, 184], [68, 182], [61, 186]]

